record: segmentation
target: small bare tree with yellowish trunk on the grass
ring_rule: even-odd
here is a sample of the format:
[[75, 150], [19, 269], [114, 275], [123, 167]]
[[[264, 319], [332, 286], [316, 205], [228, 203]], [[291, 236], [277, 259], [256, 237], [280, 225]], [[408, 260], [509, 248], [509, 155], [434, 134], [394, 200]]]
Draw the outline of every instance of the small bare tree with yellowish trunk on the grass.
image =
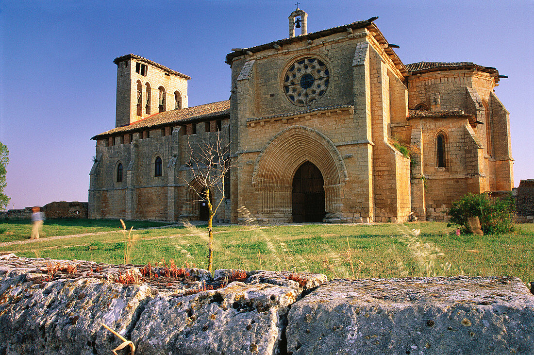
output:
[[[199, 197], [195, 202], [206, 202], [208, 205], [208, 271], [213, 272], [213, 217], [224, 201], [224, 178], [234, 167], [230, 159], [230, 144], [224, 145], [221, 132], [217, 132], [215, 141], [202, 141], [194, 143], [193, 147], [189, 137], [189, 161], [187, 167], [193, 176], [192, 180], [185, 180], [189, 188]], [[195, 188], [193, 184], [200, 188]], [[196, 185], [195, 184], [195, 185]], [[217, 200], [216, 192], [218, 192]], [[220, 198], [219, 198], [220, 197]]]

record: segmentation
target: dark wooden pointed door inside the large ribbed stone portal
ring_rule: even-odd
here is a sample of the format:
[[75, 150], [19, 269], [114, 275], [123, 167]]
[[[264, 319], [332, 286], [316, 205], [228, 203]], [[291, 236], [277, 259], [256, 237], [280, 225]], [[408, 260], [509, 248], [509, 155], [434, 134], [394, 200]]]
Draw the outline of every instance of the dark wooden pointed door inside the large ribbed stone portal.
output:
[[319, 168], [304, 162], [295, 172], [292, 189], [293, 222], [323, 222], [325, 188]]

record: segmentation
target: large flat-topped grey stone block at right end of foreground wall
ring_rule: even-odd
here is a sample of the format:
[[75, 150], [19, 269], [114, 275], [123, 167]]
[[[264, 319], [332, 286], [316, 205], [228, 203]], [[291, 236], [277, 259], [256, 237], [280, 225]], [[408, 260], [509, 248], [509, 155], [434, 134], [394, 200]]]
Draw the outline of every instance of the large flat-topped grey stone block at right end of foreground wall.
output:
[[534, 297], [509, 277], [332, 280], [286, 336], [293, 354], [533, 354]]

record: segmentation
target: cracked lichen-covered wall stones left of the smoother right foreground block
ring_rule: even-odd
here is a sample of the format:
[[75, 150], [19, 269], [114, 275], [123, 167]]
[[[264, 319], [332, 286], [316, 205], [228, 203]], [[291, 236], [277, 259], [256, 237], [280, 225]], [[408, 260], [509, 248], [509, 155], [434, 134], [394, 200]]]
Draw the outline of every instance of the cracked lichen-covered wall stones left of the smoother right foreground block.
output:
[[[326, 281], [239, 270], [214, 280], [201, 269], [173, 278], [161, 267], [143, 278], [140, 267], [0, 256], [0, 353], [109, 354], [122, 341], [104, 323], [136, 354], [276, 354], [289, 306]], [[117, 282], [124, 275], [138, 282]]]

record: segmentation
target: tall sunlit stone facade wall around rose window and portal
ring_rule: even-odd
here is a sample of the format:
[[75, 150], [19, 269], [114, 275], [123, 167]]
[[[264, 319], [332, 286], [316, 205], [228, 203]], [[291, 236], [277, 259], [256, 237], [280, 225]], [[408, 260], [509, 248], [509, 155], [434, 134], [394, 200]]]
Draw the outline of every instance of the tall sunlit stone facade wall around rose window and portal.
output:
[[[372, 48], [373, 53], [372, 65], [369, 48]], [[290, 104], [282, 89], [287, 68], [295, 60], [304, 57], [318, 58], [329, 68], [326, 93], [306, 108]], [[383, 68], [375, 64], [380, 61], [385, 63]], [[389, 77], [394, 82], [391, 90]], [[375, 102], [372, 97], [378, 94], [371, 87], [376, 78], [384, 81], [383, 86], [378, 88], [383, 96], [380, 99], [380, 105], [383, 106], [380, 114], [378, 108], [371, 111], [371, 102]], [[390, 107], [390, 99], [395, 107]], [[232, 189], [238, 194], [239, 200], [235, 201], [232, 208], [245, 206], [263, 222], [290, 222], [292, 177], [296, 168], [308, 160], [319, 167], [325, 179], [327, 220], [374, 220], [373, 203], [377, 198], [384, 207], [391, 209], [383, 214], [381, 212], [381, 218], [405, 218], [410, 212], [409, 195], [403, 201], [399, 200], [400, 204], [397, 204], [396, 195], [403, 190], [403, 194], [409, 194], [409, 171], [406, 171], [404, 161], [399, 163], [403, 168], [399, 167], [398, 171], [404, 172], [406, 177], [398, 180], [399, 183], [402, 181], [404, 187], [397, 190], [397, 153], [391, 146], [386, 147], [387, 143], [374, 141], [372, 146], [372, 124], [382, 127], [383, 132], [378, 140], [387, 140], [390, 135], [390, 112], [396, 120], [405, 121], [406, 100], [402, 76], [365, 29], [327, 36], [317, 42], [308, 41], [303, 44], [295, 41], [284, 45], [284, 48], [247, 54], [235, 59], [232, 63], [232, 149], [241, 159], [232, 178]], [[360, 109], [360, 103], [365, 108]], [[353, 104], [356, 105], [354, 109], [350, 107]], [[340, 108], [335, 108], [335, 105]], [[325, 109], [324, 112], [316, 109], [325, 106], [334, 108]], [[347, 106], [349, 108], [345, 108]], [[350, 112], [347, 115], [348, 109]], [[308, 110], [309, 113], [302, 112], [303, 110]], [[375, 123], [371, 123], [371, 117]], [[310, 133], [312, 135], [322, 134], [326, 138], [319, 139], [316, 143], [306, 143], [308, 138], [291, 135], [289, 132], [276, 138], [285, 129], [298, 126], [317, 132]], [[330, 151], [325, 154], [329, 156], [328, 159], [332, 157], [333, 161], [339, 161], [339, 164], [320, 162], [322, 158], [318, 152], [328, 146], [329, 142], [335, 148], [328, 148]], [[276, 153], [269, 154], [269, 147], [276, 147]], [[284, 147], [287, 147], [286, 151]], [[373, 162], [372, 152], [376, 159], [382, 159], [378, 158], [384, 155], [382, 151], [387, 153], [389, 160], [384, 162], [382, 172], [373, 174], [372, 166], [376, 162]], [[282, 156], [285, 161], [280, 157], [271, 158], [271, 155]], [[280, 163], [276, 163], [277, 161]], [[339, 166], [336, 167], [336, 164]], [[373, 179], [390, 169], [392, 171], [388, 173], [388, 179], [391, 182], [378, 185], [373, 183]], [[340, 175], [343, 175], [341, 180], [335, 177]], [[375, 196], [373, 191], [378, 191], [379, 195]], [[391, 201], [392, 205], [389, 204]], [[399, 206], [402, 206], [400, 212], [397, 211]]]

